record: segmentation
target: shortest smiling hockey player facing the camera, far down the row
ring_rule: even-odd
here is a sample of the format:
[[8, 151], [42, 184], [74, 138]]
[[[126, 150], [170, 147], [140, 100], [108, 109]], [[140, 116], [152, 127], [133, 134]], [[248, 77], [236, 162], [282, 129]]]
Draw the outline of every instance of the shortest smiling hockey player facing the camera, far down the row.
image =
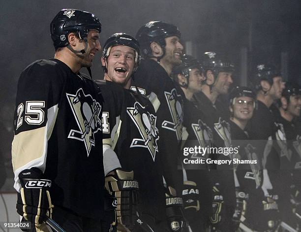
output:
[[[256, 147], [246, 132], [246, 125], [256, 107], [256, 95], [247, 87], [236, 87], [230, 93], [230, 128], [234, 147], [239, 149], [235, 165], [236, 209], [235, 220], [242, 231], [264, 231], [261, 227], [262, 201], [266, 200], [261, 189], [263, 172]], [[246, 163], [250, 162], [249, 164]], [[271, 216], [274, 210], [269, 211]]]

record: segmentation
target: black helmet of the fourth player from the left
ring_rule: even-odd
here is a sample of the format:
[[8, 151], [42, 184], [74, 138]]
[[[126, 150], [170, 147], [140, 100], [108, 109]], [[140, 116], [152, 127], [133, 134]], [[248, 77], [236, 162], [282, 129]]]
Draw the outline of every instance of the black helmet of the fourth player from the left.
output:
[[204, 68], [202, 67], [201, 62], [193, 56], [184, 54], [181, 57], [181, 61], [181, 65], [173, 68], [172, 74], [174, 78], [178, 78], [178, 74], [182, 73], [187, 79], [189, 79], [189, 71], [193, 68], [198, 68], [202, 73], [204, 73]]

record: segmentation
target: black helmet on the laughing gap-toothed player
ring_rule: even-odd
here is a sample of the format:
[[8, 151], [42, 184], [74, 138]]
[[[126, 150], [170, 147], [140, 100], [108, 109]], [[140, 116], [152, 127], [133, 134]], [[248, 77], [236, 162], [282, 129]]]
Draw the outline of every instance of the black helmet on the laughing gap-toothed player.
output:
[[[141, 61], [141, 50], [140, 45], [137, 39], [133, 36], [126, 33], [114, 33], [112, 34], [107, 41], [105, 42], [102, 50], [102, 58], [107, 59], [110, 55], [110, 50], [114, 46], [123, 45], [132, 48], [135, 51], [135, 67], [134, 71], [136, 71], [137, 67], [140, 65]], [[107, 67], [102, 66], [103, 70], [107, 72]]]

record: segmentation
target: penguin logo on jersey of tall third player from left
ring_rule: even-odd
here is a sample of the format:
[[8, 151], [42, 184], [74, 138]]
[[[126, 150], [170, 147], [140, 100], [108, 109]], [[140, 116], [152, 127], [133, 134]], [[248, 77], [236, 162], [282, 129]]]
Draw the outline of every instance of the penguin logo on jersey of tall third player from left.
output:
[[162, 127], [176, 132], [178, 140], [182, 137], [182, 122], [183, 122], [183, 108], [182, 98], [178, 95], [177, 90], [173, 89], [170, 93], [164, 92], [167, 104], [173, 119], [173, 122], [164, 120]]

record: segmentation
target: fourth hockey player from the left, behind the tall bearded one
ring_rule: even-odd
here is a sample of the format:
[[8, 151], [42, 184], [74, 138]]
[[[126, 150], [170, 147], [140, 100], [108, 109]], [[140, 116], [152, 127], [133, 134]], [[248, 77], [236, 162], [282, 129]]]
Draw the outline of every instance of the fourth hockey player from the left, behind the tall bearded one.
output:
[[[184, 99], [184, 126], [188, 136], [182, 145], [182, 154], [189, 148], [211, 147], [212, 125], [205, 118], [203, 112], [192, 103], [195, 93], [202, 90], [202, 82], [205, 80], [204, 69], [200, 62], [189, 55], [183, 55], [182, 63], [173, 68], [173, 78], [179, 83]], [[188, 158], [188, 159], [187, 159]], [[182, 198], [185, 215], [192, 231], [205, 231], [207, 221], [211, 216], [211, 183], [208, 165], [189, 165], [185, 160], [206, 160], [208, 154], [193, 153], [182, 156], [184, 188]], [[185, 160], [183, 160], [185, 159]], [[198, 170], [196, 170], [198, 169]], [[201, 170], [199, 170], [201, 169]]]

